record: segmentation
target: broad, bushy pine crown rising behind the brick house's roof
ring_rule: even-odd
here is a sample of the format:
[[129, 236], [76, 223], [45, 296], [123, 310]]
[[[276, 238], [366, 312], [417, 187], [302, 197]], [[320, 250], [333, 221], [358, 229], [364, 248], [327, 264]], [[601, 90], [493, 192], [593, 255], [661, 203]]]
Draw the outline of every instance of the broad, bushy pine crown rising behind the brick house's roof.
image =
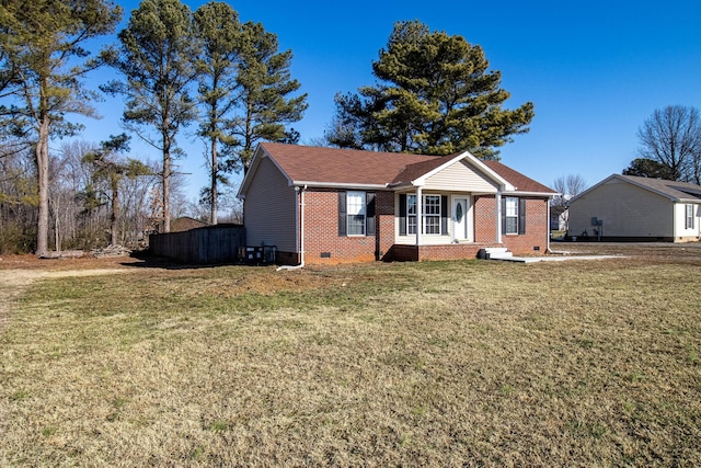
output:
[[400, 22], [379, 59], [379, 80], [358, 94], [337, 94], [329, 142], [383, 151], [449, 155], [470, 150], [496, 159], [510, 136], [528, 132], [533, 104], [508, 111], [501, 72], [461, 36]]

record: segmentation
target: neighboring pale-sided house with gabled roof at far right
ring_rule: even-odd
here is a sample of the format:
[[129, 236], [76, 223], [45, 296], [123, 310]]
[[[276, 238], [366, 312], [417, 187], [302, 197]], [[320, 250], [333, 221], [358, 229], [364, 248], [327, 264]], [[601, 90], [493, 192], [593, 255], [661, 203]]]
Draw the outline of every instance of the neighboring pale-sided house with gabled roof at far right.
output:
[[610, 175], [570, 202], [568, 235], [607, 241], [698, 241], [701, 186]]

